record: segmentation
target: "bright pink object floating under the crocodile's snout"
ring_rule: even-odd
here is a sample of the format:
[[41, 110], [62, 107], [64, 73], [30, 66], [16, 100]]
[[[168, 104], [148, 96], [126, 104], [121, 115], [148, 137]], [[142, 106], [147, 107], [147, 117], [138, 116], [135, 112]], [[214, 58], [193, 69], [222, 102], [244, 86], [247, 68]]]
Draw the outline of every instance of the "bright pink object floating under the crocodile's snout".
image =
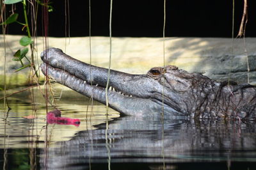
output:
[[63, 118], [61, 117], [61, 111], [54, 110], [51, 112], [47, 112], [47, 123], [56, 123], [58, 125], [75, 125], [76, 127], [79, 127], [80, 120], [72, 118]]

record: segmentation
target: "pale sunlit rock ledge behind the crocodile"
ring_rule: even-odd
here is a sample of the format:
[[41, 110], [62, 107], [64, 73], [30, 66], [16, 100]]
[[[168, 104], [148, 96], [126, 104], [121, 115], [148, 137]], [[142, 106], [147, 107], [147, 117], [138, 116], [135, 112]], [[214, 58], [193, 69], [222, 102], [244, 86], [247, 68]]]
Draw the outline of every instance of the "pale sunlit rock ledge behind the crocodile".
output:
[[[16, 50], [20, 49], [21, 36], [6, 35], [6, 86], [28, 85], [29, 68], [13, 71], [20, 63], [12, 61]], [[108, 68], [109, 38], [92, 37], [92, 60], [88, 37], [48, 38], [49, 47], [56, 47], [73, 58], [86, 63]], [[42, 63], [40, 52], [44, 50], [44, 38], [36, 42], [36, 67]], [[112, 38], [111, 68], [129, 73], [146, 73], [154, 66], [176, 65], [189, 72], [198, 72], [217, 81], [230, 79], [239, 83], [256, 84], [256, 38]], [[0, 88], [4, 76], [4, 40], [0, 35]], [[3, 45], [2, 45], [3, 44]], [[165, 59], [163, 59], [165, 56]], [[165, 62], [164, 62], [165, 60]], [[248, 61], [248, 63], [247, 63]], [[248, 66], [250, 72], [248, 72]], [[42, 74], [41, 74], [42, 75]], [[41, 76], [40, 81], [43, 79]], [[249, 78], [248, 78], [249, 77]]]

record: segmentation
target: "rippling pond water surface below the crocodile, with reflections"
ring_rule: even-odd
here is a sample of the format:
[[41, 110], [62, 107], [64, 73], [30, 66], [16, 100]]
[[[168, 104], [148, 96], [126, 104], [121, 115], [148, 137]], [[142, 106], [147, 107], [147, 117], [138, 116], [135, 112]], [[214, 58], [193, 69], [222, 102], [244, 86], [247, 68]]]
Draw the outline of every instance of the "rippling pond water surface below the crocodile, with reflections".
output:
[[[256, 169], [255, 123], [120, 116], [112, 109], [106, 116], [105, 105], [88, 107], [88, 98], [64, 91], [56, 104], [61, 116], [81, 124], [47, 125], [44, 98], [33, 93], [33, 103], [26, 91], [8, 98], [12, 110], [1, 110], [0, 168]], [[29, 115], [36, 118], [23, 118]]]

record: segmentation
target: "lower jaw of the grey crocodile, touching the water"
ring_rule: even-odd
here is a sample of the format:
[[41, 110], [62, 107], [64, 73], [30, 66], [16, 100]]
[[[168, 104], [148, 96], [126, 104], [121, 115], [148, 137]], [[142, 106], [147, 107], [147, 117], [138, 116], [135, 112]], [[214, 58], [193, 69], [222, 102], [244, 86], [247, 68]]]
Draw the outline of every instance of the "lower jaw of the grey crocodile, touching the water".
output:
[[[99, 86], [98, 84], [92, 85], [90, 82], [83, 81], [60, 68], [54, 68], [45, 63], [40, 67], [44, 74], [47, 70], [49, 77], [54, 79], [54, 81], [63, 84], [68, 88], [74, 89], [74, 91], [77, 91], [86, 97], [93, 97], [93, 100], [106, 104], [106, 89], [103, 86]], [[111, 87], [108, 90], [108, 102], [109, 107], [118, 112], [137, 116], [160, 115], [163, 107], [163, 105], [159, 105], [148, 98], [124, 95], [121, 92], [115, 91]], [[170, 107], [167, 107], [164, 112], [168, 112], [169, 116], [170, 113], [178, 115], [178, 113]]]

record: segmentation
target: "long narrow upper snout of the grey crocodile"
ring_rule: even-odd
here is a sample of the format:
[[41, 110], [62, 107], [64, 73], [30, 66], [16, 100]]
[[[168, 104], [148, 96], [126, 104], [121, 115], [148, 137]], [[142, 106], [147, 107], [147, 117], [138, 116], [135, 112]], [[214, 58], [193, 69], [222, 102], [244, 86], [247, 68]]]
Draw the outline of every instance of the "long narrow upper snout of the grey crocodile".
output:
[[[87, 63], [71, 58], [60, 49], [55, 48], [42, 52], [41, 58], [44, 63], [54, 68], [66, 70], [70, 75], [74, 75], [83, 81], [106, 87], [108, 81], [108, 69], [106, 68], [88, 65]], [[143, 79], [147, 79], [147, 81], [143, 81]], [[148, 82], [148, 77], [146, 75], [132, 75], [116, 70], [111, 70], [109, 75], [109, 87], [115, 88], [115, 91], [120, 91], [122, 94], [129, 96], [148, 98], [150, 93], [147, 91], [147, 88], [140, 88], [138, 86], [141, 82]]]

